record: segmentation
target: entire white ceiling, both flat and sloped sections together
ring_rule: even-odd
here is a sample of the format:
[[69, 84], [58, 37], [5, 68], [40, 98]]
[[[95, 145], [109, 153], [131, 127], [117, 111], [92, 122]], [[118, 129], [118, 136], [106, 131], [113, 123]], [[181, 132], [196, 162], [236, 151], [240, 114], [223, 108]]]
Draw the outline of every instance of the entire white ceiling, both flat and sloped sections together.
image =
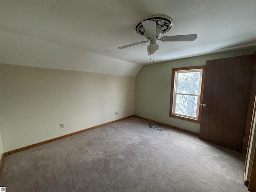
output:
[[154, 62], [163, 62], [256, 47], [255, 10], [255, 0], [0, 0], [0, 62], [135, 76], [153, 62], [148, 44], [117, 48], [146, 40], [135, 31], [142, 18], [171, 17], [163, 36], [198, 35], [158, 41]]

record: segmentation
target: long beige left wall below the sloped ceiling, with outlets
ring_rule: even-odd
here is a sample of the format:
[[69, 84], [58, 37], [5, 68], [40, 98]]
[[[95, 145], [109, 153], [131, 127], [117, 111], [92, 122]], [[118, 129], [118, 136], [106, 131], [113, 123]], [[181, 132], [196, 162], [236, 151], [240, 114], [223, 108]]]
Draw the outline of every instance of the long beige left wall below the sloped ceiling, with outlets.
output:
[[134, 81], [129, 76], [0, 64], [3, 152], [133, 115]]

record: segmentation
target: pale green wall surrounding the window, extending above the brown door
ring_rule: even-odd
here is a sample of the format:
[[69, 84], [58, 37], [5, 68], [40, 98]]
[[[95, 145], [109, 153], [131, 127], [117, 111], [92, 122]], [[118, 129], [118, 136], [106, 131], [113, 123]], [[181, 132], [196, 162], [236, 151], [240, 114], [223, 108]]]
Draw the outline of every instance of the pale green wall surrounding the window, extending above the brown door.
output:
[[243, 49], [144, 65], [135, 77], [135, 114], [199, 133], [200, 124], [169, 117], [172, 68], [205, 65], [206, 60], [253, 54], [254, 50]]

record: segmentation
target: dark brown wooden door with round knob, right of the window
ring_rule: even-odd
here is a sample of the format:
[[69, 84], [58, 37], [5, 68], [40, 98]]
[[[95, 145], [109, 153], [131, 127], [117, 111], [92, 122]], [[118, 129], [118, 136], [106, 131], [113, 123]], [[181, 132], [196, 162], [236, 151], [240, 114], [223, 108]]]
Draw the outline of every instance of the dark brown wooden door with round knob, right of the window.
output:
[[206, 61], [199, 138], [240, 152], [254, 55]]

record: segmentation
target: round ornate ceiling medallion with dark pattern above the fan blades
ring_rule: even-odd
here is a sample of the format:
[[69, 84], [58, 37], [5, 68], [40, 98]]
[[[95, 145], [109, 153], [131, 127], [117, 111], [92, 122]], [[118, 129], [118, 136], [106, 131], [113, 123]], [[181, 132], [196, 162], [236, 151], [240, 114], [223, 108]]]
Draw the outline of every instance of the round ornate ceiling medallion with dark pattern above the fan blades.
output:
[[[143, 21], [150, 20], [156, 22], [156, 36], [157, 38], [168, 32], [172, 28], [173, 20], [172, 18], [164, 15], [152, 15], [146, 18], [143, 18], [136, 24], [135, 30], [138, 34], [144, 36], [145, 30], [142, 25]], [[146, 37], [147, 38], [147, 37]]]

